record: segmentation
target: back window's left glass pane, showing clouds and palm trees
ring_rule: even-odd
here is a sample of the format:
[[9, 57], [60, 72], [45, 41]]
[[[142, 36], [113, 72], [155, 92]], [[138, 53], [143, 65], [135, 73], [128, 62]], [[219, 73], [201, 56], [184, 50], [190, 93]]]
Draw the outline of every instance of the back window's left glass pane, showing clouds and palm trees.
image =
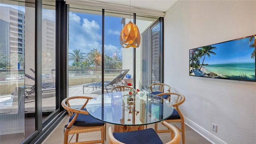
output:
[[68, 97], [76, 95], [94, 97], [101, 94], [101, 11], [101, 9], [90, 10], [85, 7], [70, 5]]

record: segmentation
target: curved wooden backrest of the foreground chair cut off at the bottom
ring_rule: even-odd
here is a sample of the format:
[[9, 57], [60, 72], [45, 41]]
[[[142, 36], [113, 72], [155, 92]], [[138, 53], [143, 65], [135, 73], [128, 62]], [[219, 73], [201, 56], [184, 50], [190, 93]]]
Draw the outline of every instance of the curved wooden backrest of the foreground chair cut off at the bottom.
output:
[[[167, 142], [166, 144], [179, 144], [181, 139], [179, 130], [165, 121], [161, 121], [161, 123], [168, 128], [168, 132], [170, 132], [172, 138], [172, 140], [170, 142]], [[124, 144], [116, 140], [113, 135], [113, 128], [111, 126], [108, 128], [108, 139], [110, 144]]]

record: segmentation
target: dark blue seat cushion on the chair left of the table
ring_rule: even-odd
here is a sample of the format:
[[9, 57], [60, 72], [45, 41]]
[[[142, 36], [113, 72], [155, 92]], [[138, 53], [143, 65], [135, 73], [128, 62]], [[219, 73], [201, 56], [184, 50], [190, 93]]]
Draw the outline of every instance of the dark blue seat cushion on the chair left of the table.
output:
[[[86, 111], [86, 109], [82, 109], [82, 110]], [[69, 118], [69, 122], [72, 121], [74, 116], [75, 116], [75, 113]], [[91, 115], [84, 115], [79, 113], [73, 125], [74, 126], [102, 126], [104, 124], [105, 123], [103, 121], [95, 119]]]

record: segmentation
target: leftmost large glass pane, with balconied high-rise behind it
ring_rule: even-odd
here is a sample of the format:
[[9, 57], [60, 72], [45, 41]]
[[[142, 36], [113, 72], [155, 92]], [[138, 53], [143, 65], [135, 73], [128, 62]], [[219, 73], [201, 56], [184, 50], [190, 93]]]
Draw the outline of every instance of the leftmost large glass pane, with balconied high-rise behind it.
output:
[[[34, 37], [35, 4], [0, 1], [0, 143], [20, 143], [35, 131]], [[26, 33], [26, 35], [25, 35]], [[26, 45], [25, 45], [26, 43]]]

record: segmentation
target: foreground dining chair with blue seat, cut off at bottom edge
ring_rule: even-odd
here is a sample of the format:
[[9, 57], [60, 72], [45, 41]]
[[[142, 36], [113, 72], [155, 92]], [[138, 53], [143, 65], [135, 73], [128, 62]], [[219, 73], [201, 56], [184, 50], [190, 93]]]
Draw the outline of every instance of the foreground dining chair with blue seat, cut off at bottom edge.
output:
[[[178, 129], [165, 121], [161, 123], [169, 129], [172, 137], [172, 140], [166, 144], [179, 144], [181, 136]], [[108, 128], [108, 139], [110, 144], [163, 144], [153, 128], [130, 132], [113, 132], [113, 128], [110, 126]]]

